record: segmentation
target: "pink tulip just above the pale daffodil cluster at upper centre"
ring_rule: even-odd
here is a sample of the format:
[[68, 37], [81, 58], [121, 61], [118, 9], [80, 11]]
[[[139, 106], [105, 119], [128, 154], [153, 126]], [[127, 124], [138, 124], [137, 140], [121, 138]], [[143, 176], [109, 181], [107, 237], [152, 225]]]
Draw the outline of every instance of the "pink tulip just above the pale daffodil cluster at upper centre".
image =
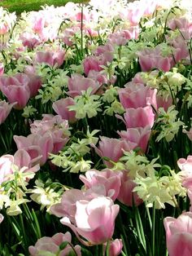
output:
[[68, 78], [68, 95], [74, 98], [77, 95], [82, 94], [82, 90], [92, 88], [91, 94], [96, 93], [100, 85], [91, 78], [86, 78], [80, 74], [72, 74], [72, 77]]

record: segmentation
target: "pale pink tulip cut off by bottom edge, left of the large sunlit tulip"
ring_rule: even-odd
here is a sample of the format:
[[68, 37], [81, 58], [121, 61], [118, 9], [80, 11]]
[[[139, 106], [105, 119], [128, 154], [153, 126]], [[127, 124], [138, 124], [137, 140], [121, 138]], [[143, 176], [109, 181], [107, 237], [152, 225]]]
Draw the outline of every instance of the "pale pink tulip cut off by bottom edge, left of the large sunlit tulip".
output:
[[[34, 246], [29, 246], [28, 251], [30, 256], [39, 256], [46, 254], [58, 254], [59, 256], [68, 256], [72, 253], [72, 246], [67, 245], [64, 249], [59, 248], [59, 245], [62, 245], [63, 242], [68, 242], [71, 244], [72, 236], [70, 232], [57, 233], [55, 236], [49, 237], [44, 236], [37, 240], [37, 243]], [[73, 247], [76, 251], [76, 255], [81, 256], [81, 246], [76, 245]]]

